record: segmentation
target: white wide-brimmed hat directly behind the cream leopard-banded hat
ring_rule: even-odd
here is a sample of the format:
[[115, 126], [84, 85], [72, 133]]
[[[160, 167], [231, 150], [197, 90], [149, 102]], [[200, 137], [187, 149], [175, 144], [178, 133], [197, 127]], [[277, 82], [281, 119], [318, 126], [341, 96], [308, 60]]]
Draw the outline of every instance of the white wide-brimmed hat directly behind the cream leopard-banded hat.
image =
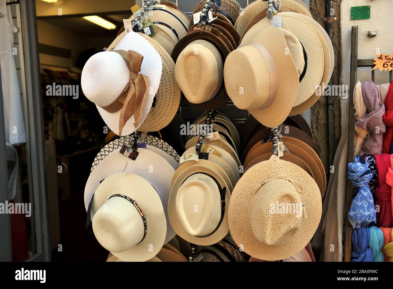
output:
[[[92, 200], [96, 188], [103, 179], [118, 172], [134, 173], [147, 180], [157, 191], [161, 199], [167, 218], [166, 243], [176, 234], [169, 224], [169, 219], [167, 217], [167, 204], [174, 169], [162, 156], [148, 149], [138, 149], [138, 156], [135, 160], [131, 160], [119, 153], [120, 149], [121, 147], [101, 160], [94, 171], [90, 173], [84, 189], [84, 205], [86, 212], [88, 211], [90, 201]], [[127, 189], [130, 188], [128, 187]]]

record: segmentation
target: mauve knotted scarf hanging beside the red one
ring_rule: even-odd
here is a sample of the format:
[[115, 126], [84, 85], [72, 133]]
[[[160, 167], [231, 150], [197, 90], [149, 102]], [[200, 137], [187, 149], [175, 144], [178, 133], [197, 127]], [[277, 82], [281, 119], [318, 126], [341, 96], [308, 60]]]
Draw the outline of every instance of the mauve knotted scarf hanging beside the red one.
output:
[[376, 155], [382, 153], [383, 134], [386, 126], [382, 121], [385, 105], [381, 102], [378, 89], [373, 81], [362, 83], [362, 97], [366, 113], [356, 121], [356, 126], [368, 129], [369, 133], [363, 141], [360, 155]]

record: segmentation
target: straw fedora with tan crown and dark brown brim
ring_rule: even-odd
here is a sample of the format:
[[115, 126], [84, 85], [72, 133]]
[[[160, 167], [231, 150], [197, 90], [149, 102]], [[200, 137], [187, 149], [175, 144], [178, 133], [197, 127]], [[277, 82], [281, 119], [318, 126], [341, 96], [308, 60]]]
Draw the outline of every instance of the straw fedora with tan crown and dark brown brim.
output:
[[[206, 57], [209, 57], [213, 63], [207, 63], [204, 62], [202, 57], [199, 57], [198, 55], [194, 55], [194, 50], [190, 50], [187, 48], [186, 52], [182, 54], [182, 56], [179, 59], [180, 54], [183, 52], [183, 50], [193, 41], [195, 40], [205, 40], [208, 41], [209, 43], [213, 44], [213, 46], [216, 48], [216, 50], [210, 51], [207, 49], [202, 48], [202, 52]], [[216, 93], [215, 89], [218, 85], [217, 81], [219, 81], [219, 74], [218, 74], [218, 67], [216, 67], [216, 70], [214, 70], [215, 65], [219, 65], [219, 61], [215, 60], [215, 57], [213, 55], [217, 55], [217, 52], [219, 52], [219, 55], [221, 57], [222, 63], [224, 63], [227, 55], [233, 50], [230, 41], [222, 34], [220, 33], [219, 36], [216, 36], [215, 34], [205, 30], [205, 29], [200, 29], [200, 28], [193, 28], [192, 31], [189, 31], [187, 35], [181, 39], [176, 46], [173, 48], [172, 52], [172, 58], [176, 63], [176, 81], [179, 83], [179, 86], [182, 88], [183, 93], [185, 96], [189, 97], [191, 101], [194, 103], [191, 103], [187, 99], [187, 103], [189, 105], [196, 107], [197, 109], [201, 110], [209, 110], [209, 109], [217, 109], [221, 107], [222, 105], [226, 104], [229, 100], [228, 95], [225, 90], [225, 85], [223, 84], [224, 82], [222, 81], [219, 91]], [[191, 53], [191, 54], [190, 54]], [[198, 50], [199, 53], [199, 50]], [[188, 56], [188, 57], [187, 57]], [[192, 56], [191, 58], [189, 56]], [[193, 70], [188, 69], [185, 67], [185, 61], [192, 62], [193, 63]], [[210, 81], [208, 78], [203, 75], [204, 77], [202, 78], [202, 75], [198, 77], [195, 71], [200, 72], [200, 67], [199, 65], [202, 65], [204, 68], [209, 69], [212, 75], [208, 75], [209, 77], [213, 78], [213, 81]], [[217, 72], [214, 72], [217, 71]], [[222, 72], [222, 71], [221, 71]], [[184, 76], [182, 76], [184, 74]], [[200, 73], [201, 74], [201, 73]], [[198, 90], [195, 90], [195, 85], [191, 85], [192, 88], [194, 88], [193, 91], [198, 92], [198, 98], [191, 98], [192, 96], [188, 93], [189, 89], [188, 87], [185, 87], [185, 84], [189, 83], [190, 80], [194, 79], [195, 81], [198, 81], [198, 83], [204, 87], [204, 89], [208, 90], [208, 92], [205, 92], [201, 90], [198, 92]], [[211, 99], [207, 99], [210, 98]], [[206, 101], [204, 101], [207, 99]], [[199, 103], [196, 103], [199, 102]]]

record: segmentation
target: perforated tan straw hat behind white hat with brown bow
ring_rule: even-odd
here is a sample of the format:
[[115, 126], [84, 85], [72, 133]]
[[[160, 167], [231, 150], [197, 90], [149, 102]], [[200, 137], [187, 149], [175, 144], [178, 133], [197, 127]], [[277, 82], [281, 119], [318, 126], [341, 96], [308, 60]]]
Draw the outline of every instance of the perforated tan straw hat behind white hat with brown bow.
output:
[[[174, 78], [174, 62], [171, 56], [154, 39], [143, 33], [138, 34], [146, 39], [156, 49], [162, 60], [161, 82], [155, 95], [156, 101], [138, 130], [149, 132], [159, 131], [168, 125], [174, 118], [180, 104], [181, 91]], [[125, 35], [126, 32], [124, 31], [116, 37], [116, 39], [109, 45], [107, 51], [114, 50], [114, 47], [117, 47], [118, 43], [122, 41]]]

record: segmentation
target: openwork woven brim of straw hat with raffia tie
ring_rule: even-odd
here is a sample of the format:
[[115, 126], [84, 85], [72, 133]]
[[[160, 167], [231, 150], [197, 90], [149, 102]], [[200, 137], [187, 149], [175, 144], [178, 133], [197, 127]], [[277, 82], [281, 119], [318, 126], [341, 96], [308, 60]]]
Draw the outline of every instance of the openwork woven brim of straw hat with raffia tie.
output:
[[[292, 236], [283, 236], [276, 247], [264, 245], [254, 237], [247, 215], [253, 188], [269, 179], [273, 172], [285, 175], [303, 186], [301, 199], [307, 210], [307, 219], [301, 220]], [[305, 248], [320, 223], [321, 214], [322, 200], [318, 186], [305, 170], [285, 160], [266, 160], [250, 168], [237, 182], [229, 204], [228, 225], [233, 239], [237, 245], [243, 246], [244, 252], [261, 260], [275, 261], [293, 256]]]

